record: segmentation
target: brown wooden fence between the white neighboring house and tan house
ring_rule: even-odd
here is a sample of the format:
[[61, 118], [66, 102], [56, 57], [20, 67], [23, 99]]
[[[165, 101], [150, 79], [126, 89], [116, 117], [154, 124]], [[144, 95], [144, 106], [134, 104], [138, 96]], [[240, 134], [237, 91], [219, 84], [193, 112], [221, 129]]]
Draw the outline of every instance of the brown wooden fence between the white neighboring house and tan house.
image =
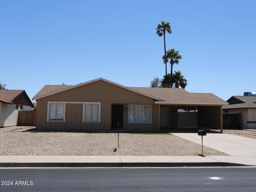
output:
[[36, 111], [19, 111], [18, 126], [36, 126]]

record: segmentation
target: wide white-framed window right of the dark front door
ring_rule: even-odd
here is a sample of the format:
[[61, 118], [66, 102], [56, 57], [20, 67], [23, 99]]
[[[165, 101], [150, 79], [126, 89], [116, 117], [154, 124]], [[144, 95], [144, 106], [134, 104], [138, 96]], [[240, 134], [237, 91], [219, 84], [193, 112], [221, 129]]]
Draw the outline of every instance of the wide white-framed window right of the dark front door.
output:
[[151, 123], [151, 105], [129, 105], [128, 122]]

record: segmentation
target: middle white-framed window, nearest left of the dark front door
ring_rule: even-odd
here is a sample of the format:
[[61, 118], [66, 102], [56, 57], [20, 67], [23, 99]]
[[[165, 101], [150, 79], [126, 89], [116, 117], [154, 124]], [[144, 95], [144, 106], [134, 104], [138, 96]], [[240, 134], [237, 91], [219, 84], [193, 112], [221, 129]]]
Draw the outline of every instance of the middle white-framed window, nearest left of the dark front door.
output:
[[83, 122], [100, 122], [100, 103], [84, 103]]

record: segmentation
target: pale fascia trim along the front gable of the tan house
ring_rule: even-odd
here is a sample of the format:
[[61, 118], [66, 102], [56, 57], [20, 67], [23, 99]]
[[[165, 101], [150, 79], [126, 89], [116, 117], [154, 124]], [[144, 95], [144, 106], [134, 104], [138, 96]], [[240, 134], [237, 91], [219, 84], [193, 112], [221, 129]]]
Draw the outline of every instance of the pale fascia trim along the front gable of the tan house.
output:
[[39, 97], [35, 97], [35, 98], [33, 98], [33, 99], [34, 99], [34, 100], [41, 99], [41, 98], [44, 98], [44, 97], [47, 97], [47, 96], [50, 96], [50, 95], [53, 95], [53, 94], [56, 94], [56, 93], [60, 93], [60, 92], [66, 91], [66, 90], [70, 90], [70, 89], [72, 89], [72, 88], [76, 88], [76, 87], [79, 87], [79, 86], [83, 86], [83, 85], [86, 85], [86, 84], [90, 84], [90, 83], [93, 83], [93, 82], [96, 82], [96, 81], [99, 81], [99, 80], [102, 80], [102, 81], [104, 81], [104, 82], [108, 82], [108, 83], [110, 83], [110, 84], [116, 85], [116, 86], [121, 87], [121, 88], [124, 88], [124, 89], [126, 89], [126, 90], [130, 90], [130, 91], [132, 91], [132, 92], [136, 92], [136, 93], [138, 93], [138, 94], [147, 96], [147, 97], [149, 97], [149, 98], [152, 98], [152, 99], [155, 99], [155, 100], [158, 100], [158, 101], [164, 101], [164, 100], [162, 100], [162, 99], [153, 97], [153, 96], [151, 96], [151, 95], [144, 94], [144, 93], [142, 93], [142, 92], [136, 91], [136, 90], [131, 89], [131, 88], [128, 88], [128, 87], [126, 87], [126, 86], [123, 86], [123, 85], [114, 83], [114, 82], [112, 82], [112, 81], [106, 80], [106, 79], [104, 79], [104, 78], [98, 78], [98, 79], [90, 80], [90, 81], [88, 81], [88, 82], [84, 82], [84, 83], [81, 83], [81, 84], [77, 84], [77, 85], [74, 85], [74, 86], [70, 86], [70, 87], [67, 87], [67, 88], [64, 88], [64, 89], [55, 91], [55, 92], [51, 92], [51, 93], [48, 93], [48, 94], [45, 94], [45, 95], [42, 95], [42, 96], [39, 96]]

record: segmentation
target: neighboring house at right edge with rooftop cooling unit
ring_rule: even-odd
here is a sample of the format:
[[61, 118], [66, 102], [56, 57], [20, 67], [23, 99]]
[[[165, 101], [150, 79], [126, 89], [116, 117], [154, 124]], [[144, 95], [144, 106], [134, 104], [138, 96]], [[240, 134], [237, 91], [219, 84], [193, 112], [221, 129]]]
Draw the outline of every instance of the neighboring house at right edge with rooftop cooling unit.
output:
[[232, 96], [223, 106], [223, 114], [237, 114], [240, 129], [256, 129], [256, 93], [244, 92], [244, 96]]

